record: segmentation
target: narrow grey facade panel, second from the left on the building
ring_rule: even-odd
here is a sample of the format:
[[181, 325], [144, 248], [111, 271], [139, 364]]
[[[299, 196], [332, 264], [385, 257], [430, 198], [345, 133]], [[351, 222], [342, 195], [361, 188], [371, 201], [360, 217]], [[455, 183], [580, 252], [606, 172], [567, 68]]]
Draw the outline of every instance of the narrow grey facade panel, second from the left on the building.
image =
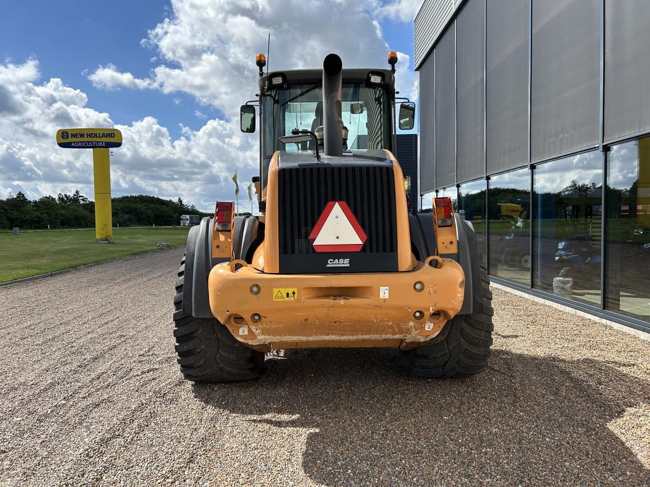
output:
[[435, 46], [435, 186], [456, 183], [455, 29]]

